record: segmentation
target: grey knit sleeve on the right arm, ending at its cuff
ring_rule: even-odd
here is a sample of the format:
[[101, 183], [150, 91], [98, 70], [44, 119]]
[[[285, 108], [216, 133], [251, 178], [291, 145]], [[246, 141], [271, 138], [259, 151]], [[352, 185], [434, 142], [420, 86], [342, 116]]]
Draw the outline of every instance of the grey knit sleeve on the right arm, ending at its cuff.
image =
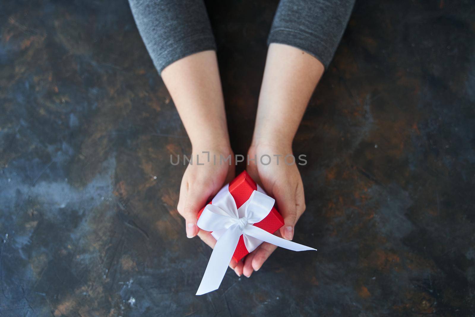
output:
[[354, 0], [281, 0], [267, 44], [300, 48], [327, 68], [350, 19], [353, 4]]

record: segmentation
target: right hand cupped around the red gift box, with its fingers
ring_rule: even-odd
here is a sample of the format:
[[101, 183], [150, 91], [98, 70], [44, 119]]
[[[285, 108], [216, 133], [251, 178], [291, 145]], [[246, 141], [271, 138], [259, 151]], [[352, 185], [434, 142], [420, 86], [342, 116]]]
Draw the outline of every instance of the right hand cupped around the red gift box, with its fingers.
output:
[[[268, 165], [263, 165], [259, 161], [261, 155], [264, 154], [271, 157], [271, 163]], [[273, 156], [274, 154], [282, 154], [279, 157], [278, 165], [277, 157]], [[249, 148], [248, 155], [250, 159], [257, 155], [257, 164], [254, 161], [250, 162], [247, 166], [247, 173], [264, 188], [268, 195], [276, 199], [278, 211], [284, 217], [285, 225], [275, 234], [281, 238], [292, 240], [295, 223], [305, 211], [305, 198], [302, 178], [296, 163], [287, 165], [284, 161], [287, 154], [292, 154], [290, 144], [253, 144]], [[266, 163], [267, 158], [265, 157], [263, 160]], [[290, 157], [287, 162], [291, 162]], [[235, 266], [233, 263], [230, 266], [238, 276], [244, 274], [250, 277], [253, 271], [261, 268], [276, 248], [273, 244], [263, 242], [246, 258], [240, 260]]]

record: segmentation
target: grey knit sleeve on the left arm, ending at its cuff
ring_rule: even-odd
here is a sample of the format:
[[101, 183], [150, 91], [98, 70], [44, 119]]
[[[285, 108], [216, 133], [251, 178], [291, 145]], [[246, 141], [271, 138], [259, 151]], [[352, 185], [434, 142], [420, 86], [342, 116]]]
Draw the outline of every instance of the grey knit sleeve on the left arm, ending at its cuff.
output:
[[159, 74], [180, 58], [216, 50], [202, 0], [129, 0], [129, 3]]

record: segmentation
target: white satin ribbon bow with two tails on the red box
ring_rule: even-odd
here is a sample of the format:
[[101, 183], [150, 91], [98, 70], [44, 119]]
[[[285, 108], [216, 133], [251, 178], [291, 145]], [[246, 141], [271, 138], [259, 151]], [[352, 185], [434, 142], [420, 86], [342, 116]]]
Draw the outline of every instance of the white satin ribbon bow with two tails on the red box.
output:
[[261, 188], [257, 189], [258, 191], [254, 191], [247, 202], [237, 209], [236, 202], [226, 185], [213, 198], [212, 204], [206, 205], [199, 216], [198, 227], [213, 231], [211, 234], [218, 241], [211, 253], [196, 295], [206, 294], [219, 288], [241, 234], [249, 252], [254, 251], [263, 241], [293, 251], [316, 251], [314, 248], [279, 238], [252, 225], [266, 218], [275, 202], [274, 198], [267, 196]]

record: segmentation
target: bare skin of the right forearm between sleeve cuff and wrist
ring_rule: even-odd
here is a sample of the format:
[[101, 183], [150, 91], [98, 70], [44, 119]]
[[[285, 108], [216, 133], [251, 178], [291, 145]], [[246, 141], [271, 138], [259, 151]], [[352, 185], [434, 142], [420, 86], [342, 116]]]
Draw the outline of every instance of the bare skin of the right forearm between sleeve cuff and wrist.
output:
[[272, 43], [267, 52], [253, 144], [290, 148], [323, 64], [308, 53]]

